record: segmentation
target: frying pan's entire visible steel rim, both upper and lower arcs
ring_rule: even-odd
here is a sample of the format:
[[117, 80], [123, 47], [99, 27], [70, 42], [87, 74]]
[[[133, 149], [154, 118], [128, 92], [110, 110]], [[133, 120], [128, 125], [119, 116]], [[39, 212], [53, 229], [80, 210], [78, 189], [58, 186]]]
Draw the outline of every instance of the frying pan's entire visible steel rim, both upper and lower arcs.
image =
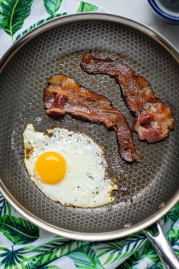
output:
[[[131, 19], [127, 19], [117, 15], [111, 15], [107, 13], [79, 13], [73, 15], [65, 15], [63, 17], [51, 19], [38, 27], [30, 30], [20, 39], [18, 39], [12, 47], [4, 54], [4, 56], [0, 60], [0, 74], [3, 71], [4, 67], [8, 64], [10, 59], [27, 43], [38, 37], [39, 35], [52, 30], [53, 28], [60, 27], [62, 25], [77, 23], [77, 22], [87, 22], [87, 21], [98, 21], [98, 22], [108, 22], [108, 23], [115, 23], [119, 25], [124, 25], [130, 27], [138, 32], [143, 33], [144, 35], [148, 36], [159, 45], [161, 45], [171, 56], [172, 58], [178, 63], [179, 65], [179, 52], [172, 44], [167, 41], [163, 36], [159, 33], [155, 32], [154, 30], [146, 27], [138, 22], [135, 22]], [[120, 230], [105, 232], [105, 233], [82, 233], [82, 232], [75, 232], [70, 230], [65, 230], [60, 227], [56, 227], [52, 224], [49, 224], [37, 216], [30, 213], [26, 210], [23, 205], [19, 204], [18, 201], [10, 194], [7, 190], [3, 181], [0, 179], [0, 192], [6, 198], [6, 200], [19, 212], [21, 215], [28, 219], [29, 221], [33, 222], [33, 224], [37, 225], [48, 232], [57, 234], [59, 236], [64, 236], [74, 240], [86, 240], [86, 241], [104, 241], [104, 240], [112, 240], [118, 239], [124, 236], [128, 236], [132, 233], [136, 233], [142, 229], [149, 227], [150, 225], [154, 224], [158, 221], [163, 215], [165, 215], [179, 200], [179, 189], [175, 193], [175, 195], [163, 206], [161, 207], [156, 213], [154, 213], [151, 217], [148, 217], [141, 221], [139, 224], [132, 225], [130, 227], [125, 227]]]

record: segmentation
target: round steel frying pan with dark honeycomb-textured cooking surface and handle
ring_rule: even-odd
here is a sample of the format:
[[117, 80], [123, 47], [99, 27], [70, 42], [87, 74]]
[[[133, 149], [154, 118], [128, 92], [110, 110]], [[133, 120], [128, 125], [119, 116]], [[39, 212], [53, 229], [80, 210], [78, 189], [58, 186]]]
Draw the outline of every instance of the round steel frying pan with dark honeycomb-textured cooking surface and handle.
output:
[[[80, 62], [85, 52], [130, 66], [135, 74], [149, 80], [155, 95], [172, 110], [175, 125], [165, 140], [147, 143], [139, 141], [133, 132], [134, 144], [143, 157], [141, 163], [126, 163], [121, 159], [115, 132], [105, 126], [70, 115], [54, 117], [45, 113], [46, 78], [62, 73], [107, 96], [132, 128], [134, 117], [115, 79], [81, 70]], [[165, 215], [179, 199], [178, 63], [178, 52], [158, 33], [109, 14], [63, 16], [25, 34], [0, 62], [0, 191], [7, 201], [29, 221], [60, 236], [101, 241], [143, 229], [158, 249], [161, 240], [166, 240], [160, 224], [159, 240], [145, 229]], [[80, 130], [103, 146], [109, 169], [119, 187], [112, 193], [115, 202], [83, 209], [64, 207], [44, 196], [30, 181], [24, 165], [22, 134], [28, 123], [33, 123], [39, 132], [56, 125]], [[82, 169], [80, 164], [78, 169]], [[169, 243], [167, 247], [171, 249]], [[167, 259], [169, 249], [159, 250], [162, 259]], [[170, 265], [166, 262], [166, 268], [179, 268], [176, 260]]]

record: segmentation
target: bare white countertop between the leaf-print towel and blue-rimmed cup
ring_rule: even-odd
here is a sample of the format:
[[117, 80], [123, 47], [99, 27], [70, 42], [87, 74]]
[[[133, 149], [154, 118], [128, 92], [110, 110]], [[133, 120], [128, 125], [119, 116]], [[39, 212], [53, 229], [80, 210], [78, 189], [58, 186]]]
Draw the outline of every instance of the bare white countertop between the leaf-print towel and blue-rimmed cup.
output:
[[179, 51], [179, 25], [162, 22], [153, 13], [147, 0], [94, 0], [111, 14], [140, 22], [160, 33]]

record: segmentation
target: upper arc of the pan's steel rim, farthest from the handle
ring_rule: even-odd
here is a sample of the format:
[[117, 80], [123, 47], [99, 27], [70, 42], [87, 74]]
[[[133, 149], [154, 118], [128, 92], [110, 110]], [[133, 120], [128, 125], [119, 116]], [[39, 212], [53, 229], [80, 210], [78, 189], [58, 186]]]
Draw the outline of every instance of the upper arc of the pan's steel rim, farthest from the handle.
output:
[[97, 13], [97, 12], [86, 12], [72, 15], [64, 15], [62, 17], [57, 17], [54, 19], [50, 19], [47, 22], [44, 22], [37, 27], [33, 28], [29, 32], [25, 33], [21, 38], [19, 38], [14, 44], [7, 50], [7, 52], [0, 59], [0, 74], [4, 69], [5, 65], [10, 61], [10, 59], [27, 43], [35, 39], [37, 36], [57, 28], [59, 26], [78, 23], [78, 22], [87, 22], [87, 21], [98, 21], [98, 22], [109, 22], [115, 23], [123, 26], [127, 26], [133, 30], [137, 30], [147, 37], [151, 38], [159, 45], [161, 45], [177, 62], [179, 65], [179, 51], [161, 34], [153, 29], [149, 28], [146, 25], [143, 25], [139, 22], [135, 22], [134, 20], [118, 16], [112, 15], [108, 13]]

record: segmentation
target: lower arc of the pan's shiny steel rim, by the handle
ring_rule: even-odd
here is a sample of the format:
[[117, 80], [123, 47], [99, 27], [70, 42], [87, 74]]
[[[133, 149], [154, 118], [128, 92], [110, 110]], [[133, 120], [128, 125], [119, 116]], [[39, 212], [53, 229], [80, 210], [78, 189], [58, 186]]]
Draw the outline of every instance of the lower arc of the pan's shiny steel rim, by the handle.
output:
[[28, 210], [26, 210], [16, 199], [13, 198], [13, 196], [10, 194], [10, 192], [7, 190], [7, 188], [4, 186], [3, 182], [0, 179], [0, 192], [4, 196], [4, 198], [7, 200], [11, 206], [15, 210], [17, 210], [24, 218], [26, 218], [28, 221], [32, 222], [39, 228], [42, 228], [46, 230], [47, 232], [54, 233], [58, 236], [67, 237], [69, 239], [73, 240], [82, 240], [82, 241], [107, 241], [107, 240], [114, 240], [119, 239], [122, 237], [129, 236], [133, 233], [137, 233], [141, 230], [146, 229], [147, 227], [151, 226], [152, 224], [155, 224], [160, 218], [162, 218], [166, 213], [169, 212], [172, 207], [175, 206], [175, 204], [179, 200], [179, 190], [175, 193], [174, 197], [170, 199], [163, 207], [158, 209], [158, 212], [154, 213], [152, 217], [148, 217], [140, 222], [140, 224], [135, 224], [130, 227], [125, 227], [120, 230], [116, 231], [110, 231], [110, 232], [100, 232], [100, 233], [82, 233], [82, 232], [76, 232], [71, 230], [66, 230], [60, 227], [56, 227], [52, 224], [47, 223], [46, 221], [43, 221], [42, 219], [38, 218], [37, 216], [30, 213]]

